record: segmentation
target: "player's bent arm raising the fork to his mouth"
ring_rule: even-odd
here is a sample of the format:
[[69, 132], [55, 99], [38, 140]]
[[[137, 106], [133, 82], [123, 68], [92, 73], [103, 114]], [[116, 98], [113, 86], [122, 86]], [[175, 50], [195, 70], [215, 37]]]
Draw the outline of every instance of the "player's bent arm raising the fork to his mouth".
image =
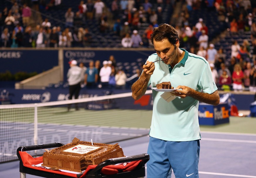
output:
[[150, 76], [153, 74], [154, 70], [155, 64], [152, 62], [147, 61], [147, 64], [143, 65], [143, 72], [140, 75], [140, 78], [135, 83], [133, 83], [131, 87], [132, 97], [134, 100], [140, 99], [145, 94]]

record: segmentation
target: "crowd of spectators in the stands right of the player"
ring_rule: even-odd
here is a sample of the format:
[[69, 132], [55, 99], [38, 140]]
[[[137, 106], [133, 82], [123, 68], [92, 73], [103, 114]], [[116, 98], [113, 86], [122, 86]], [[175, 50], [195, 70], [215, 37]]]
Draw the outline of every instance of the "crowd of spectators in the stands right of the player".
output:
[[[255, 30], [256, 30], [256, 6], [250, 0], [216, 0], [207, 1], [204, 4], [207, 11], [217, 11], [218, 20], [227, 24], [227, 35], [233, 37], [242, 36], [250, 32], [251, 37], [243, 39], [239, 43], [234, 38], [230, 44], [231, 54], [225, 52], [223, 47], [215, 49], [215, 45], [209, 41], [208, 27], [202, 16], [194, 26], [188, 21], [189, 11], [200, 9], [200, 1], [187, 0], [183, 7], [182, 17], [176, 28], [179, 30], [179, 40], [189, 52], [204, 57], [211, 66], [212, 75], [219, 89], [256, 92], [256, 61], [255, 61]], [[247, 33], [248, 34], [248, 33]]]

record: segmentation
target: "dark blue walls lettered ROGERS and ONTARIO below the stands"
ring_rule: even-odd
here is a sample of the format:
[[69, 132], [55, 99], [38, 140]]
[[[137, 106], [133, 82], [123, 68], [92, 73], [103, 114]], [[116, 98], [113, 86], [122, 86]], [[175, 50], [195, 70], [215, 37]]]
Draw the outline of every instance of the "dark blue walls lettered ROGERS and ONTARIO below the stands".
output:
[[[111, 55], [116, 59], [116, 62], [131, 63], [142, 61], [143, 63], [148, 57], [155, 53], [151, 49], [141, 50], [63, 50], [63, 67], [64, 67], [64, 82], [67, 81], [67, 71], [69, 69], [68, 62], [71, 60], [77, 60], [78, 63], [83, 62], [85, 66], [88, 66], [89, 61], [99, 60], [101, 64], [104, 60], [108, 60]], [[19, 71], [24, 72], [37, 72], [52, 69], [52, 67], [58, 65], [58, 50], [40, 50], [40, 49], [26, 49], [26, 50], [0, 50], [0, 72], [11, 73]]]

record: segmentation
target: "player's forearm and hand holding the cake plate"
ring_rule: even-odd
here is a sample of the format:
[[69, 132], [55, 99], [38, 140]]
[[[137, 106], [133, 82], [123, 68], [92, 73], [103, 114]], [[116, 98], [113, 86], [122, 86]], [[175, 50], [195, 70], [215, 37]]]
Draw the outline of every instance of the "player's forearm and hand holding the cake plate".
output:
[[219, 96], [218, 90], [209, 94], [209, 93], [202, 93], [192, 88], [189, 88], [187, 86], [181, 86], [181, 85], [179, 85], [176, 89], [182, 89], [182, 90], [177, 90], [177, 93], [174, 93], [174, 95], [179, 96], [181, 98], [190, 96], [196, 100], [199, 100], [200, 102], [204, 102], [206, 104], [210, 104], [214, 106], [220, 103], [220, 96]]

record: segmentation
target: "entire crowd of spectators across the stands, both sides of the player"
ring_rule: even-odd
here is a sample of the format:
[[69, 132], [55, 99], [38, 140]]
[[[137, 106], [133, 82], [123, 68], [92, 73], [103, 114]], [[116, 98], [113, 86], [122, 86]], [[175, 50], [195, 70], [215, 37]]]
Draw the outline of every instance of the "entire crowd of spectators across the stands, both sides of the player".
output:
[[[104, 35], [107, 30], [113, 31], [125, 48], [151, 47], [150, 34], [154, 27], [163, 23], [163, 4], [172, 4], [175, 0], [114, 0], [111, 1], [112, 16], [106, 13], [106, 2], [101, 0], [80, 1], [77, 8], [68, 8], [65, 12], [65, 28], [51, 24], [48, 18], [32, 28], [31, 9], [25, 3], [13, 3], [8, 9], [0, 12], [0, 32], [2, 47], [90, 47], [92, 33], [84, 27], [85, 20], [96, 20], [99, 31]], [[154, 6], [153, 4], [157, 4]], [[178, 33], [180, 47], [204, 57], [211, 64], [216, 84], [222, 89], [255, 91], [255, 57], [256, 57], [256, 6], [250, 0], [183, 0], [178, 14], [173, 14], [170, 21]], [[52, 6], [59, 6], [60, 1]], [[48, 6], [47, 9], [52, 7]], [[239, 44], [234, 40], [231, 55], [224, 49], [215, 49], [209, 44], [209, 29], [202, 16], [192, 24], [190, 11], [206, 8], [210, 13], [216, 11], [218, 20], [227, 24], [229, 35], [251, 32], [250, 39]], [[111, 25], [109, 22], [113, 21]], [[140, 25], [148, 24], [142, 33]], [[105, 62], [106, 63], [106, 62]], [[250, 64], [250, 67], [249, 67]], [[223, 66], [225, 65], [225, 68]], [[224, 70], [225, 69], [225, 70]], [[117, 71], [117, 70], [116, 70]], [[116, 73], [111, 71], [111, 75]], [[229, 76], [226, 77], [226, 76]], [[99, 78], [100, 75], [99, 75]], [[104, 77], [103, 77], [104, 78]]]

